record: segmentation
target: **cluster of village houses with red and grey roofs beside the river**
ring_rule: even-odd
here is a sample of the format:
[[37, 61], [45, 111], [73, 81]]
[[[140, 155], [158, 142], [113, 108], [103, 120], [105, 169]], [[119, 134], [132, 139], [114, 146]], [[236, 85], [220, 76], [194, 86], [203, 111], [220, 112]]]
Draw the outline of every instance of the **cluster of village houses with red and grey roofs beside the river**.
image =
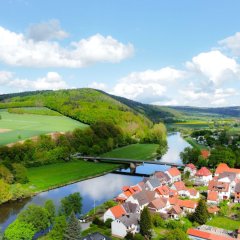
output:
[[[217, 204], [224, 199], [234, 198], [240, 202], [240, 169], [220, 164], [213, 176], [206, 167], [197, 170], [193, 164], [184, 168], [195, 185], [207, 186], [207, 203], [210, 213], [216, 213]], [[176, 168], [157, 171], [134, 186], [124, 186], [116, 197], [117, 206], [109, 208], [104, 221], [112, 220], [112, 235], [124, 238], [129, 232], [140, 232], [139, 220], [144, 207], [159, 214], [163, 219], [179, 219], [195, 211], [200, 195], [195, 188], [189, 188], [181, 180], [181, 172]]]

